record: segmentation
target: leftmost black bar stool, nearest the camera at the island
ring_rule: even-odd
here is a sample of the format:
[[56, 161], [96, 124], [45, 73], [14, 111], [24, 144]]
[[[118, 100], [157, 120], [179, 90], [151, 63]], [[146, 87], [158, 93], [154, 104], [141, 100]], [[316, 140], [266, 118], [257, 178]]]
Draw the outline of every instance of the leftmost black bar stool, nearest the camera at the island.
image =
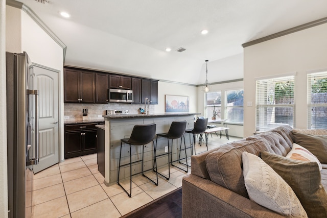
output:
[[[155, 185], [158, 185], [158, 174], [156, 174], [157, 175], [157, 182], [156, 183], [153, 180], [151, 180], [149, 177], [144, 175], [144, 172], [150, 171], [150, 170], [152, 170], [154, 168], [155, 168], [155, 171], [157, 171], [157, 161], [156, 161], [156, 158], [155, 158], [155, 146], [154, 146], [154, 141], [153, 141], [153, 138], [155, 137], [155, 128], [156, 128], [156, 124], [135, 125], [133, 127], [131, 137], [121, 139], [121, 152], [120, 152], [120, 156], [119, 156], [119, 166], [118, 166], [118, 185], [121, 186], [124, 189], [124, 191], [127, 193], [128, 197], [132, 196], [132, 176], [134, 176], [136, 174], [142, 173], [142, 176], [148, 178]], [[144, 171], [143, 170], [143, 165], [144, 165], [143, 164], [144, 145], [150, 143], [151, 141], [153, 143], [153, 151], [154, 151], [154, 164], [153, 164], [154, 167], [151, 168], [151, 169], [148, 169], [147, 171]], [[129, 144], [129, 158], [130, 158], [130, 161], [127, 164], [121, 165], [123, 142], [126, 143], [126, 144]], [[143, 147], [142, 160], [132, 162], [131, 146], [142, 146]], [[136, 163], [136, 162], [139, 162], [139, 161], [142, 161], [142, 172], [132, 175], [132, 163]], [[127, 190], [119, 183], [119, 174], [120, 174], [121, 166], [125, 166], [125, 165], [128, 165], [128, 164], [130, 165], [130, 193], [128, 193]]]

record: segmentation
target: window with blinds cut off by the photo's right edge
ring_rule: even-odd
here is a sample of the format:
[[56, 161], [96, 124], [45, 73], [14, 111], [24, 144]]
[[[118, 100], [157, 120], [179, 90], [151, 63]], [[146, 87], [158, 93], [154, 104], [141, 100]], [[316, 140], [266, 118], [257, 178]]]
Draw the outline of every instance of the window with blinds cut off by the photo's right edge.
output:
[[308, 129], [327, 129], [327, 71], [308, 74]]

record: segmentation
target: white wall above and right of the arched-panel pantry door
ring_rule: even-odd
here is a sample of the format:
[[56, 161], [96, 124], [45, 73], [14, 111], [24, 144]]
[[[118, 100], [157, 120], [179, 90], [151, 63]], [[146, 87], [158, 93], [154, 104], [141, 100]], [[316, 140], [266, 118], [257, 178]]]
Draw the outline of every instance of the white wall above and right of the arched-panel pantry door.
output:
[[[60, 71], [59, 76], [59, 135], [63, 135], [63, 49], [37, 23], [21, 9], [6, 7], [6, 51], [27, 52], [33, 63]], [[61, 122], [62, 121], [62, 122]], [[64, 138], [60, 138], [60, 160], [64, 157]]]

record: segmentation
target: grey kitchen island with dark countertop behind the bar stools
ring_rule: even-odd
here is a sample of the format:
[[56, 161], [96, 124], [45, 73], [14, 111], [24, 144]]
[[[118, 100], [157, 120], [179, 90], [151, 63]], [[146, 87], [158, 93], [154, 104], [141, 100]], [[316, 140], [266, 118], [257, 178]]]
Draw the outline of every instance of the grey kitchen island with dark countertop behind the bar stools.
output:
[[[156, 123], [156, 133], [168, 132], [173, 121], [186, 120], [186, 129], [194, 127], [194, 115], [200, 113], [162, 113], [162, 114], [122, 114], [122, 115], [103, 115], [105, 120], [105, 140], [104, 140], [104, 183], [109, 186], [116, 184], [118, 176], [118, 165], [120, 146], [122, 138], [129, 138], [134, 125]], [[191, 138], [186, 137], [186, 147], [190, 146]], [[154, 138], [154, 142], [156, 142]], [[151, 142], [152, 143], [152, 142]], [[144, 147], [144, 169], [153, 167], [153, 147], [152, 144], [146, 144]], [[180, 139], [174, 140], [172, 149], [173, 160], [176, 160], [179, 154]], [[156, 154], [164, 154], [167, 146], [167, 138], [158, 138], [156, 145]], [[170, 141], [171, 146], [171, 141]], [[170, 147], [171, 148], [171, 147]], [[183, 146], [182, 146], [183, 148]], [[142, 159], [142, 146], [132, 146], [132, 162]], [[191, 156], [191, 150], [188, 151], [188, 157]], [[168, 153], [168, 152], [166, 152]], [[181, 157], [185, 157], [181, 153]], [[129, 145], [123, 143], [121, 164], [129, 163]], [[158, 168], [168, 164], [167, 155], [157, 158]], [[132, 174], [141, 172], [141, 162], [132, 165]], [[129, 177], [129, 166], [121, 167], [120, 179]]]

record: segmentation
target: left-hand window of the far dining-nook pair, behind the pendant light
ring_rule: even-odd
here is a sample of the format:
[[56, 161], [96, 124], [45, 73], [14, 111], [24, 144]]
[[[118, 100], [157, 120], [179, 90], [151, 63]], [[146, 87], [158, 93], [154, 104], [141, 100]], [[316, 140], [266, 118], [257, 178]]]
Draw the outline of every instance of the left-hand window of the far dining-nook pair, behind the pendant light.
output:
[[[215, 107], [214, 107], [215, 106]], [[221, 117], [221, 92], [207, 92], [205, 93], [205, 117], [211, 118], [213, 111], [217, 110], [218, 117]]]

